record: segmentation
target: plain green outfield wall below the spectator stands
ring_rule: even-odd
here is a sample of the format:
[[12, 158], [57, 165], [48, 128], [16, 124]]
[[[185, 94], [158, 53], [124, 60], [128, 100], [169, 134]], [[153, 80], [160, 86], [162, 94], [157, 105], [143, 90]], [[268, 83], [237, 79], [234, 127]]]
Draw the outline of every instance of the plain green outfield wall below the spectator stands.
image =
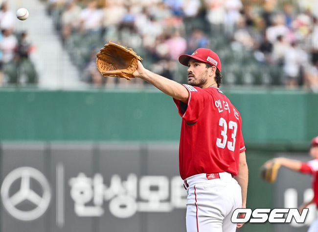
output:
[[[318, 95], [223, 89], [246, 143], [306, 144], [318, 134]], [[0, 90], [0, 140], [178, 141], [181, 118], [155, 89]]]

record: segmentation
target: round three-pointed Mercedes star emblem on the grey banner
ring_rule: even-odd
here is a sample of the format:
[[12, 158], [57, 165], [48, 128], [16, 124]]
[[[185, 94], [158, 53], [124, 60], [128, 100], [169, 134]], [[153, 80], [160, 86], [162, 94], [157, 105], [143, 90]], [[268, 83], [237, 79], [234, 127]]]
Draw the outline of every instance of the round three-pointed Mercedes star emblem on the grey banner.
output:
[[[10, 187], [21, 179], [20, 189], [10, 196]], [[36, 180], [42, 187], [43, 194], [40, 196], [31, 189], [30, 180]], [[3, 206], [15, 218], [23, 221], [31, 221], [41, 217], [51, 200], [51, 189], [45, 176], [32, 167], [20, 167], [11, 171], [3, 180], [1, 186], [1, 197]], [[20, 210], [18, 204], [29, 201], [36, 207], [29, 211]]]

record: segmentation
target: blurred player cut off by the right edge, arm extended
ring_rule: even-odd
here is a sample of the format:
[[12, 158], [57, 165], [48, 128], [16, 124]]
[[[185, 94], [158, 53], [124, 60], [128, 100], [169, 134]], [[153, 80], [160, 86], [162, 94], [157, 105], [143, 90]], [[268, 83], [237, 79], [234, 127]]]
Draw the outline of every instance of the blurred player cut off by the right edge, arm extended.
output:
[[[302, 162], [299, 160], [287, 159], [284, 157], [275, 158], [275, 162], [277, 162], [281, 166], [289, 168], [295, 172], [311, 174], [313, 177], [312, 188], [314, 190], [314, 198], [311, 201], [306, 202], [302, 206], [300, 206], [300, 211], [302, 211], [303, 208], [309, 206], [312, 203], [315, 203], [318, 208], [318, 136], [312, 139], [309, 154], [313, 157], [313, 160], [309, 162]], [[310, 226], [308, 232], [317, 231], [318, 218]]]

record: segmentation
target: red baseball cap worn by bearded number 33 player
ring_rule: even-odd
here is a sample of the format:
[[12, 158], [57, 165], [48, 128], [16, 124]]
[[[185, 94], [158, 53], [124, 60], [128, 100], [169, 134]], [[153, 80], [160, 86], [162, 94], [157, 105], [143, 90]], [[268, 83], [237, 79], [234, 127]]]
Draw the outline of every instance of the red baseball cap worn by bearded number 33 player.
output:
[[179, 62], [185, 66], [188, 66], [190, 58], [209, 63], [215, 66], [221, 72], [221, 61], [217, 53], [210, 49], [199, 48], [192, 55], [183, 54], [179, 56]]

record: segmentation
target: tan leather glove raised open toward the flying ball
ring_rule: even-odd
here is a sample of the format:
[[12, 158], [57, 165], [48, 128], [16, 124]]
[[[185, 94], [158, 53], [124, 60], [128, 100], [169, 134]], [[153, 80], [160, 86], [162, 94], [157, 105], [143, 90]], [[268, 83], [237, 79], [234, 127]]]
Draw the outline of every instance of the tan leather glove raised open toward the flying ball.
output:
[[119, 77], [130, 80], [142, 58], [127, 47], [109, 42], [97, 53], [96, 66], [104, 77]]

